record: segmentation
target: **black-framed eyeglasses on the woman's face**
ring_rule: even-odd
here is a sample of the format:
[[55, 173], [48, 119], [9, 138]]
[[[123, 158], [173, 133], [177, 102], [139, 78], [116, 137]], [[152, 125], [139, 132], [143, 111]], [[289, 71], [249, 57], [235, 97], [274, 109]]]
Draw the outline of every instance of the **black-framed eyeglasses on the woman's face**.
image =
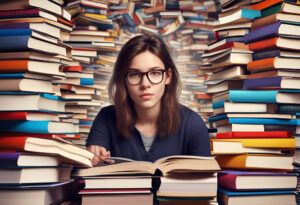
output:
[[155, 69], [147, 72], [133, 70], [127, 73], [126, 80], [130, 85], [138, 85], [146, 75], [151, 84], [159, 84], [164, 79], [164, 72], [166, 71], [165, 69]]

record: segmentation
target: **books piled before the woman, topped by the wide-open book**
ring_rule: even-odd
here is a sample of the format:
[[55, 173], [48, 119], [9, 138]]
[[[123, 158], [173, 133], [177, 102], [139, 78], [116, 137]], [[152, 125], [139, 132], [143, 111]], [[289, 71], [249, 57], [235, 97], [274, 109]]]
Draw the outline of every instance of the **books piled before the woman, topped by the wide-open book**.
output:
[[[171, 156], [154, 163], [121, 160], [74, 173], [83, 177], [85, 183], [80, 192], [83, 204], [93, 204], [96, 200], [115, 205], [124, 204], [122, 200], [128, 204], [153, 204], [153, 200], [161, 204], [216, 202], [215, 172], [219, 165], [214, 158]], [[155, 199], [152, 192], [157, 196]]]

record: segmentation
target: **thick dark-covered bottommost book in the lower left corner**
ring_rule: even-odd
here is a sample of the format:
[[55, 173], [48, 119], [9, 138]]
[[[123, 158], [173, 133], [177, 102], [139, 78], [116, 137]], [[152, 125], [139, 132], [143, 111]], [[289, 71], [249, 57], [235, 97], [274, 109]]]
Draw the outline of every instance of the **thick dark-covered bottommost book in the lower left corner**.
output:
[[84, 184], [75, 180], [51, 184], [1, 185], [1, 203], [14, 205], [58, 205], [64, 201], [76, 198], [83, 186]]

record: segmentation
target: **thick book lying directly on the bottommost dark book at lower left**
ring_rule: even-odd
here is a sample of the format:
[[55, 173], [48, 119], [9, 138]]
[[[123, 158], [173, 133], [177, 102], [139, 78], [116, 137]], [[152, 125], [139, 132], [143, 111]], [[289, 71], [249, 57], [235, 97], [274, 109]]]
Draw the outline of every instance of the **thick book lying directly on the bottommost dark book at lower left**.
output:
[[14, 168], [0, 166], [0, 184], [63, 182], [70, 180], [71, 170], [72, 166]]

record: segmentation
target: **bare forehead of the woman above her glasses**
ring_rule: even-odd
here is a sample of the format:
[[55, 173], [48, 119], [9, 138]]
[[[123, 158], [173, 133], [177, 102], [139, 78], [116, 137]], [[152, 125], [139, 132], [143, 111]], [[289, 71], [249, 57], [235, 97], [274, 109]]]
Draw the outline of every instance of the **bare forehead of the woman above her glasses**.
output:
[[130, 68], [134, 68], [139, 71], [148, 71], [149, 68], [154, 67], [164, 68], [164, 64], [159, 57], [149, 51], [136, 55], [130, 64]]

